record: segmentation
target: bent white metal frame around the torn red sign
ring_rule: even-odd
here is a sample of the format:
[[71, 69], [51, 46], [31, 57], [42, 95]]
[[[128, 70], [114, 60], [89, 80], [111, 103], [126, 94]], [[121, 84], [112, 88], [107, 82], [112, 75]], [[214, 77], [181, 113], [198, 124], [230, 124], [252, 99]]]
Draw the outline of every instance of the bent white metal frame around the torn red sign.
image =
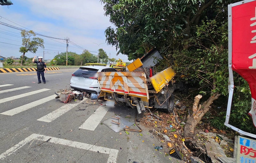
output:
[[226, 113], [226, 121], [224, 123], [225, 126], [231, 128], [232, 130], [235, 130], [241, 135], [247, 135], [249, 137], [254, 137], [256, 138], [255, 134], [245, 132], [243, 130], [240, 130], [236, 128], [235, 126], [232, 126], [229, 124], [229, 117], [230, 117], [230, 112], [231, 112], [231, 104], [232, 104], [232, 98], [233, 98], [233, 92], [234, 92], [234, 78], [233, 78], [233, 70], [232, 70], [232, 7], [245, 4], [248, 2], [252, 2], [255, 0], [245, 0], [241, 2], [237, 2], [234, 4], [229, 4], [228, 5], [228, 72], [229, 72], [229, 79], [228, 79], [228, 90], [229, 90], [229, 95], [228, 95], [228, 106], [227, 106], [227, 113]]

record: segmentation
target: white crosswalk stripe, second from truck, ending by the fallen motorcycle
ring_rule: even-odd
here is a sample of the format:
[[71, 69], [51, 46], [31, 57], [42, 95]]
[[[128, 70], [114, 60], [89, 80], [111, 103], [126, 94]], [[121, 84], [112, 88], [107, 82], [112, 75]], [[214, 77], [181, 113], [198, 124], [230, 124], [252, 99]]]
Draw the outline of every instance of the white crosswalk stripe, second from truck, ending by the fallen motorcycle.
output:
[[37, 121], [52, 122], [53, 120], [58, 118], [60, 115], [63, 115], [64, 113], [68, 112], [73, 107], [77, 106], [78, 104], [80, 104], [86, 99], [87, 98], [84, 98], [83, 100], [77, 100], [76, 102], [65, 104], [62, 107], [58, 108], [57, 110], [54, 110], [53, 112], [37, 119]]

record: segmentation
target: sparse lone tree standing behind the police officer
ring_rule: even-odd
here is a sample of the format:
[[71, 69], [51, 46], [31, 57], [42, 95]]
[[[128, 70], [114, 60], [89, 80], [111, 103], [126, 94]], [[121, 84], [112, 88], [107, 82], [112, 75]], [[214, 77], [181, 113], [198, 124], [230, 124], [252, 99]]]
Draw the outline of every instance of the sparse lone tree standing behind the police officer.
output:
[[28, 51], [31, 53], [36, 53], [39, 47], [44, 48], [44, 40], [39, 37], [35, 37], [36, 34], [31, 30], [22, 30], [20, 34], [22, 37], [23, 45], [22, 47], [20, 47], [20, 52], [22, 53], [20, 65], [22, 66], [25, 53], [27, 53]]

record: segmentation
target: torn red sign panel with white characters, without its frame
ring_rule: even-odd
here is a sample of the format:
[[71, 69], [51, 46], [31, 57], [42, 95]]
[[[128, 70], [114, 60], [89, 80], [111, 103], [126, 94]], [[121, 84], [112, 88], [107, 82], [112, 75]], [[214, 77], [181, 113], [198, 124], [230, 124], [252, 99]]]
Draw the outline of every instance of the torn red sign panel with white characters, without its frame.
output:
[[256, 1], [232, 6], [232, 69], [250, 86], [256, 127]]

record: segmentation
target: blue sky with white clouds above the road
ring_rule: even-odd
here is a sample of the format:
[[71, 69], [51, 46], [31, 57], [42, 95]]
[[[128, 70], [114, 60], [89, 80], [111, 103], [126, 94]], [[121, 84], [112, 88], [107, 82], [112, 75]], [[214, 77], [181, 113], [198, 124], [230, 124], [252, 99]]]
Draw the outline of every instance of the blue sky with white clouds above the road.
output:
[[[110, 58], [121, 58], [128, 62], [127, 56], [116, 56], [116, 48], [106, 43], [105, 29], [113, 25], [109, 18], [104, 16], [100, 0], [11, 1], [13, 5], [9, 8], [0, 5], [0, 22], [56, 38], [68, 37], [70, 41], [92, 54], [97, 55], [98, 49], [102, 48], [108, 56], [110, 54]], [[44, 51], [44, 59], [53, 59], [58, 52], [66, 51], [66, 43], [63, 40], [36, 37], [44, 39], [44, 49], [38, 49], [36, 54], [28, 52], [27, 57], [43, 56]], [[0, 56], [20, 57], [21, 43], [20, 30], [0, 25]], [[83, 49], [69, 43], [68, 51], [81, 54]]]

